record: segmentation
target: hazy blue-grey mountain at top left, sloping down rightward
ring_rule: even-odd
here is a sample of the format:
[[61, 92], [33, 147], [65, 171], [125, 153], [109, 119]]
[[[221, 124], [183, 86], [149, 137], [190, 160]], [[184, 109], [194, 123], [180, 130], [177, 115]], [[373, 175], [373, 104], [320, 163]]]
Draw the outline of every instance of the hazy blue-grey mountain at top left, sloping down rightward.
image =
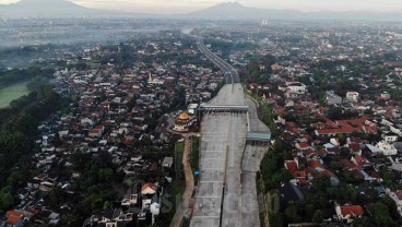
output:
[[21, 0], [0, 4], [0, 16], [5, 17], [81, 17], [128, 16], [133, 13], [95, 10], [67, 0]]

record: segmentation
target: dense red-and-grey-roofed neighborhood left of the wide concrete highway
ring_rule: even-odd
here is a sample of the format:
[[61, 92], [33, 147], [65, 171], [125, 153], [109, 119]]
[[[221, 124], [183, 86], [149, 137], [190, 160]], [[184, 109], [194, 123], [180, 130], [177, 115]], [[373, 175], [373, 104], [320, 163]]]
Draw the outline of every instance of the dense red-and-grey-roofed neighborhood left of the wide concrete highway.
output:
[[[184, 38], [189, 44], [184, 47], [179, 33], [170, 36], [176, 36], [175, 41], [96, 46], [57, 59], [66, 68], [54, 73], [51, 83], [72, 103], [38, 126], [35, 143], [40, 152], [32, 157], [37, 175], [17, 190], [20, 204], [5, 214], [8, 225], [66, 225], [62, 214], [78, 208], [68, 198], [84, 199], [81, 184], [88, 177], [104, 186], [87, 189], [90, 207], [72, 213], [79, 222], [79, 213], [98, 210], [99, 203], [105, 210], [88, 215], [82, 226], [159, 222], [162, 201], [175, 178], [177, 135], [172, 131], [196, 127], [194, 108], [208, 101], [223, 80], [220, 71], [185, 63], [185, 58], [200, 57], [194, 44]], [[123, 62], [114, 58], [121, 58], [123, 51], [153, 61], [138, 60], [122, 68]], [[107, 62], [98, 63], [99, 59]], [[99, 163], [91, 164], [94, 159]], [[99, 198], [91, 198], [97, 193]]]

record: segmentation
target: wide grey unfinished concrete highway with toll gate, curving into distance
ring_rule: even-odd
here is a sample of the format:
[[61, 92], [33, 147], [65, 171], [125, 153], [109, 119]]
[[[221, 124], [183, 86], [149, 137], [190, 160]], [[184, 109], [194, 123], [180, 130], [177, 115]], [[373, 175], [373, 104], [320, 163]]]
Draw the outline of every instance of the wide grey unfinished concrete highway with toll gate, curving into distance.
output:
[[[265, 146], [255, 148], [246, 146], [246, 142], [250, 126], [259, 131], [269, 130], [259, 126], [258, 118], [256, 120], [255, 106], [251, 118], [248, 111], [238, 111], [249, 106], [250, 100], [245, 97], [237, 71], [211, 52], [202, 38], [197, 38], [197, 45], [225, 73], [227, 84], [202, 113], [200, 179], [190, 226], [259, 226], [255, 170], [259, 168], [261, 150]], [[230, 106], [232, 109], [216, 108], [214, 111], [213, 106]], [[255, 153], [261, 154], [256, 156]], [[251, 204], [252, 210], [250, 203], [255, 204]]]

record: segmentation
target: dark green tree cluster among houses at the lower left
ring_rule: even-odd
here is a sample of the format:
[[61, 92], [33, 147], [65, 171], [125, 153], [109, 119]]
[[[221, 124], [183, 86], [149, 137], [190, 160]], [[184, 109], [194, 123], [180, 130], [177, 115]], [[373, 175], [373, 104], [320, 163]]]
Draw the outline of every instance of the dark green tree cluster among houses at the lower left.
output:
[[[61, 226], [81, 226], [82, 220], [93, 213], [110, 208], [117, 198], [114, 183], [121, 182], [122, 176], [116, 174], [117, 166], [107, 152], [100, 152], [94, 157], [90, 153], [75, 152], [71, 156], [73, 168], [82, 172], [71, 184], [71, 193], [55, 188], [46, 195], [46, 202], [52, 211], [60, 212], [60, 206], [67, 204], [73, 207], [61, 215]], [[70, 176], [70, 169], [52, 166], [55, 176]]]

